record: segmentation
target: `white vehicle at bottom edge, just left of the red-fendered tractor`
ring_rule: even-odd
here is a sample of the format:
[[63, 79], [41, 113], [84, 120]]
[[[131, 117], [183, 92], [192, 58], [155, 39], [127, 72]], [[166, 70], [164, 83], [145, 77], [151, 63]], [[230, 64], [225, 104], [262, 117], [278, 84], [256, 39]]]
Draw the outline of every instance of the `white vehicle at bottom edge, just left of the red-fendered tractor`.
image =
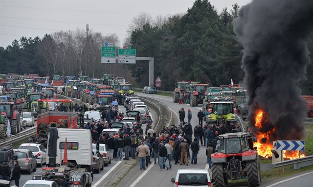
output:
[[171, 183], [175, 187], [213, 187], [214, 179], [205, 169], [179, 169]]

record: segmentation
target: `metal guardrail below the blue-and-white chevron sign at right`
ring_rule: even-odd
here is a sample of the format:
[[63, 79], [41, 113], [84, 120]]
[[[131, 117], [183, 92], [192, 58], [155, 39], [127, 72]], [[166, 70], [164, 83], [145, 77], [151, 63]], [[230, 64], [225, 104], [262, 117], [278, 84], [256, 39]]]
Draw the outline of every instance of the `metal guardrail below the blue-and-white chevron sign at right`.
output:
[[[291, 164], [300, 164], [300, 163], [307, 163], [307, 164], [302, 165], [302, 166], [309, 166], [309, 165], [313, 164], [312, 161], [313, 161], [313, 155], [310, 155], [310, 156], [302, 157], [299, 159], [292, 159], [292, 160], [282, 161], [282, 162], [273, 163], [273, 164], [261, 164], [261, 170], [271, 170], [271, 169], [274, 169], [276, 167], [283, 167], [283, 166], [287, 166], [287, 165], [291, 165]], [[295, 167], [294, 166], [294, 169], [299, 169], [301, 167], [299, 167], [299, 166]]]

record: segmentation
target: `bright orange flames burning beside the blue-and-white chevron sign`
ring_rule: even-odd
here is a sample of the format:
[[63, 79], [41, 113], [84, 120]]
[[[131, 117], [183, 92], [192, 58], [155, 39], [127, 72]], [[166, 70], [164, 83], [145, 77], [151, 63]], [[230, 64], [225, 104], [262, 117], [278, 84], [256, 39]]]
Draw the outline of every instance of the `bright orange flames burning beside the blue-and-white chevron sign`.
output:
[[[255, 117], [255, 128], [258, 130], [256, 134], [257, 142], [254, 143], [254, 146], [257, 147], [258, 154], [264, 158], [272, 156], [271, 150], [273, 148], [273, 143], [268, 142], [270, 140], [270, 134], [276, 131], [276, 128], [267, 131], [261, 132], [262, 127], [267, 123], [267, 117], [265, 113], [260, 110]], [[300, 157], [305, 157], [304, 154], [301, 154]], [[284, 151], [284, 158], [286, 159], [297, 159], [299, 158], [299, 151]]]

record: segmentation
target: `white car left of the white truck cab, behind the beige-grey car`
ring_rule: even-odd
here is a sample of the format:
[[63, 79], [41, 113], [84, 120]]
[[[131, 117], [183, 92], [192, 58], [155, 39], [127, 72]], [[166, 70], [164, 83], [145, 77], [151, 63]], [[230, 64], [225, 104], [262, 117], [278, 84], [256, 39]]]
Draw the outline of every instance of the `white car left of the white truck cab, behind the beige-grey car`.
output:
[[39, 143], [22, 143], [19, 149], [28, 149], [34, 156], [37, 156], [37, 166], [43, 166], [46, 163], [47, 153], [44, 147]]

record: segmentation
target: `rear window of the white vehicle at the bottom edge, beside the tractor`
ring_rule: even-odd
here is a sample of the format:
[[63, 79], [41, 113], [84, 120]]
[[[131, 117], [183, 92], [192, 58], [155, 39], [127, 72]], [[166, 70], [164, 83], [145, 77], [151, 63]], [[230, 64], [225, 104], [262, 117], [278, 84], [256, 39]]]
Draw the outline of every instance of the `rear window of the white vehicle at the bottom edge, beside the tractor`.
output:
[[179, 174], [178, 186], [207, 186], [207, 182], [207, 174], [181, 173]]

